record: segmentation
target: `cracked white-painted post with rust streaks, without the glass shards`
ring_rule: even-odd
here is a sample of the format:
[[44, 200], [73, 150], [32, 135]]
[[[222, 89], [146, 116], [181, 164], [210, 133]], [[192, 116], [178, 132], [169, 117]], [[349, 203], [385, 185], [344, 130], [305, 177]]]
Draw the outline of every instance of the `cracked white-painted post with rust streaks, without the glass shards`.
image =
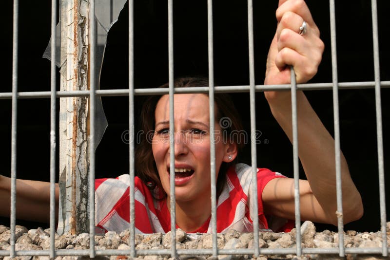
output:
[[[88, 90], [88, 2], [61, 1], [61, 91]], [[58, 232], [88, 232], [88, 98], [60, 98]], [[63, 196], [64, 195], [64, 196]]]

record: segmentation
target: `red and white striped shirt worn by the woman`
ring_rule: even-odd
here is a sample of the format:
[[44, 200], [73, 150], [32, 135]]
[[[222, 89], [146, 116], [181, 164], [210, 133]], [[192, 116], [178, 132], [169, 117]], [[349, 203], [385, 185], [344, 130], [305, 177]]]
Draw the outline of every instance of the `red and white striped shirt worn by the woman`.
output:
[[[252, 171], [245, 164], [229, 168], [223, 187], [217, 200], [217, 232], [224, 233], [229, 229], [240, 232], [252, 232], [251, 217]], [[285, 177], [266, 168], [257, 169], [257, 198], [259, 228], [268, 229], [263, 213], [261, 194], [266, 184], [274, 179]], [[96, 219], [98, 227], [105, 231], [121, 232], [130, 227], [129, 175], [116, 179], [97, 179], [95, 182]], [[171, 230], [171, 214], [166, 198], [156, 200], [150, 189], [138, 178], [135, 178], [135, 228], [137, 233], [166, 233]], [[290, 229], [284, 227], [283, 231]], [[176, 226], [178, 228], [178, 226]], [[287, 228], [287, 229], [286, 229]], [[193, 233], [211, 233], [210, 218]]]

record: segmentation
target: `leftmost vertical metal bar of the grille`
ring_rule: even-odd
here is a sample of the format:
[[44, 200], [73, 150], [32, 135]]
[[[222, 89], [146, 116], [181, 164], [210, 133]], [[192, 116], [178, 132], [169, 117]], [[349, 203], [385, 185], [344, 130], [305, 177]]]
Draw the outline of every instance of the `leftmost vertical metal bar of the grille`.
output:
[[14, 21], [12, 38], [12, 118], [11, 118], [11, 211], [10, 211], [10, 257], [15, 257], [15, 223], [16, 223], [16, 129], [18, 118], [18, 33], [19, 33], [19, 0], [14, 0]]

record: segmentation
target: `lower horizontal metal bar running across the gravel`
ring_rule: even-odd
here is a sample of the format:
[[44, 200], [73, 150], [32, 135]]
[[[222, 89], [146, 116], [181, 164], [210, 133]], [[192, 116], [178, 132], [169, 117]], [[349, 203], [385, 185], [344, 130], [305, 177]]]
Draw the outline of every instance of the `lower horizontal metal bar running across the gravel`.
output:
[[[130, 250], [96, 250], [97, 256], [130, 255]], [[288, 255], [295, 254], [295, 248], [260, 248], [260, 255]], [[390, 253], [390, 248], [388, 249]], [[56, 256], [88, 256], [89, 249], [59, 249]], [[338, 254], [338, 247], [333, 248], [302, 248], [302, 254]], [[346, 254], [382, 254], [381, 247], [345, 248]], [[9, 250], [0, 250], [0, 256], [9, 256]], [[49, 256], [50, 250], [23, 250], [15, 251], [16, 256]], [[213, 249], [177, 249], [177, 255], [212, 255]], [[219, 249], [218, 255], [249, 255], [254, 254], [254, 249]], [[171, 249], [143, 249], [136, 250], [136, 255], [171, 255]]]

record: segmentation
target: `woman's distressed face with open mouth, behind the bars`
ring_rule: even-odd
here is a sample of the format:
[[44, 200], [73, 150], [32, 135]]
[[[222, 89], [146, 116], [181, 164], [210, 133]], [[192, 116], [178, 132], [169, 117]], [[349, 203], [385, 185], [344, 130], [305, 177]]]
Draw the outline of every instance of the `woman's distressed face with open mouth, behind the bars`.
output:
[[[152, 150], [158, 175], [165, 192], [170, 194], [169, 96], [156, 106], [156, 126]], [[204, 94], [175, 95], [175, 193], [176, 201], [210, 199], [209, 97]], [[215, 172], [218, 174], [228, 156], [236, 156], [232, 145], [225, 144], [215, 122]], [[217, 178], [217, 176], [215, 177]]]

